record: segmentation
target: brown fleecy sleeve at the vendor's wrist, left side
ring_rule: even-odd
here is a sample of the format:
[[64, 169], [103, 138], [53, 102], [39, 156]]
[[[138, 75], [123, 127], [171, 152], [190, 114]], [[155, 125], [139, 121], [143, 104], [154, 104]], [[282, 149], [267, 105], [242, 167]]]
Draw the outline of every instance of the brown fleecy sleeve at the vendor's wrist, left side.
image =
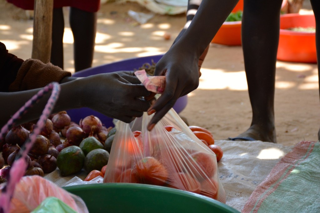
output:
[[60, 82], [67, 76], [71, 76], [71, 73], [51, 63], [44, 64], [38, 59], [27, 59], [22, 63], [14, 82], [10, 84], [9, 91], [41, 88], [51, 82]]

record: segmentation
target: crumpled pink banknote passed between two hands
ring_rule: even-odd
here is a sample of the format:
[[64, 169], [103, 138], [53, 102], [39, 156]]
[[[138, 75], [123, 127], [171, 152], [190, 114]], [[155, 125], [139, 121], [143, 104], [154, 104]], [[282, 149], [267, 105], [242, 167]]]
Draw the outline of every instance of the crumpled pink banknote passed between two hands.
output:
[[135, 71], [134, 74], [148, 91], [160, 94], [164, 92], [165, 76], [148, 76], [144, 69]]

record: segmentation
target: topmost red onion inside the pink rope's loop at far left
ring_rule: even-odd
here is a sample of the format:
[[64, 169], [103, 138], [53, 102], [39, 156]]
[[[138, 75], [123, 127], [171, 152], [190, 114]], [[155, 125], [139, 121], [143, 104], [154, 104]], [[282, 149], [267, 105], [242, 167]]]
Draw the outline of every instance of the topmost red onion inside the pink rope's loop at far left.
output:
[[11, 128], [5, 136], [5, 142], [7, 144], [18, 144], [19, 146], [22, 146], [27, 138], [29, 138], [29, 131], [22, 125], [19, 125]]

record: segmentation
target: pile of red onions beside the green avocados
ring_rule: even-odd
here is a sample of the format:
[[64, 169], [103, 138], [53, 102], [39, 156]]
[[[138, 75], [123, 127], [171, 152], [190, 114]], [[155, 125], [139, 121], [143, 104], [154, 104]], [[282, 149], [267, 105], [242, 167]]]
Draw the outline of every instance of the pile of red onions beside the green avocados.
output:
[[[0, 183], [7, 178], [8, 171], [20, 147], [28, 139], [36, 124], [24, 123], [8, 131], [3, 141], [0, 141]], [[50, 173], [57, 168], [59, 152], [68, 146], [79, 146], [84, 138], [93, 136], [102, 145], [108, 131], [100, 119], [90, 115], [80, 120], [79, 125], [72, 122], [66, 111], [52, 114], [47, 119], [43, 130], [36, 137], [36, 141], [28, 154], [28, 170], [25, 175], [40, 175]]]

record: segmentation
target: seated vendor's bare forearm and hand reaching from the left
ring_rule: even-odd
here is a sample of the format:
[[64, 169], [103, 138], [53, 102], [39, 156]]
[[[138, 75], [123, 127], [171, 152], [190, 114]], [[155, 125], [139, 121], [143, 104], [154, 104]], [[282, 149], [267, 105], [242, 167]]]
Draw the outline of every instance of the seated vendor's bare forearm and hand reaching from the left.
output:
[[[92, 75], [84, 78], [67, 77], [68, 81], [61, 83], [60, 97], [53, 113], [79, 107], [89, 107], [109, 117], [124, 122], [131, 122], [134, 117], [140, 117], [147, 111], [149, 102], [140, 97], [150, 94], [143, 85], [135, 84], [137, 79], [125, 72]], [[0, 126], [10, 119], [33, 95], [40, 89], [19, 92], [0, 92]], [[40, 117], [50, 94], [44, 96], [20, 123], [36, 120]], [[18, 124], [18, 123], [17, 123]]]

